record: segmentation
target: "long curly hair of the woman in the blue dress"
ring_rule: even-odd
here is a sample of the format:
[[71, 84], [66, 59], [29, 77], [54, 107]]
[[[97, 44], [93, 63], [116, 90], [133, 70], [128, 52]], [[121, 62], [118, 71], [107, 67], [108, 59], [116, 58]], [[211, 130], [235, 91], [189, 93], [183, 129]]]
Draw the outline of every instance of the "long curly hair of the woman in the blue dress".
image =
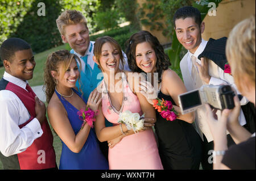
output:
[[63, 71], [63, 75], [61, 75], [63, 77], [65, 71], [68, 70], [69, 65], [71, 64], [71, 61], [74, 58], [77, 61], [79, 61], [81, 65], [79, 57], [77, 57], [75, 54], [69, 53], [68, 50], [58, 50], [48, 55], [46, 64], [44, 66], [44, 86], [43, 86], [43, 89], [46, 92], [47, 103], [49, 103], [49, 101], [51, 100], [52, 95], [55, 91], [55, 86], [57, 85], [56, 79], [52, 77], [51, 71], [53, 70], [58, 73], [60, 64], [64, 62], [64, 65], [63, 65], [64, 71]]

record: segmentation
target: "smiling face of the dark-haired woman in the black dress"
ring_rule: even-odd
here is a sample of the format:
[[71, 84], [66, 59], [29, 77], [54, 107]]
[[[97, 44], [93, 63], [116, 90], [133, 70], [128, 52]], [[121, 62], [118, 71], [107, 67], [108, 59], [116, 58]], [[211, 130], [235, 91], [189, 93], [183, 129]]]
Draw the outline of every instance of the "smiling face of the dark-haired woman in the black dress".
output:
[[146, 41], [139, 43], [136, 46], [135, 56], [136, 64], [140, 69], [146, 73], [154, 73], [157, 57], [150, 43]]

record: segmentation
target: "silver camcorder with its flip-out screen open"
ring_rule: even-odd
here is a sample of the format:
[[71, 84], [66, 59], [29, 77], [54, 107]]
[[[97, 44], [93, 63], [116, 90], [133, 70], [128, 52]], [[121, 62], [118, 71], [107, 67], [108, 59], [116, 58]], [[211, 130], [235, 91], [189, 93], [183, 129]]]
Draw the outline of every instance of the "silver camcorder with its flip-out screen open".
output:
[[233, 109], [236, 94], [229, 85], [203, 85], [200, 89], [178, 95], [181, 113], [196, 111], [208, 103], [210, 107], [218, 110]]

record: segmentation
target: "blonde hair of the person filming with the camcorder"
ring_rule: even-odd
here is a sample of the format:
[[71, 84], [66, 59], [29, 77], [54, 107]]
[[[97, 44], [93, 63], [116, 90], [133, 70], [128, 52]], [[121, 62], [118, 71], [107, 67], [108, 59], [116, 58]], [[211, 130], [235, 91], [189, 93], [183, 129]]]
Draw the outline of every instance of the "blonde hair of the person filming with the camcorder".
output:
[[255, 87], [255, 14], [238, 23], [229, 33], [226, 56], [238, 90], [246, 76]]

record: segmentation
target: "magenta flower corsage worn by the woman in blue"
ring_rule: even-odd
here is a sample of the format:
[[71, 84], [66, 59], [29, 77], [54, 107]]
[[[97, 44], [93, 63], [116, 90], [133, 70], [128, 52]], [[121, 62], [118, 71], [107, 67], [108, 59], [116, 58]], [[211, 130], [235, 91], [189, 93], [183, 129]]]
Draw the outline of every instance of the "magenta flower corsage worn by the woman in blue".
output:
[[96, 116], [98, 115], [98, 110], [93, 111], [88, 106], [82, 108], [80, 111], [77, 112], [79, 115], [79, 119], [83, 121], [82, 128], [84, 128], [85, 123], [88, 123], [91, 128], [93, 128], [93, 122], [96, 121]]

